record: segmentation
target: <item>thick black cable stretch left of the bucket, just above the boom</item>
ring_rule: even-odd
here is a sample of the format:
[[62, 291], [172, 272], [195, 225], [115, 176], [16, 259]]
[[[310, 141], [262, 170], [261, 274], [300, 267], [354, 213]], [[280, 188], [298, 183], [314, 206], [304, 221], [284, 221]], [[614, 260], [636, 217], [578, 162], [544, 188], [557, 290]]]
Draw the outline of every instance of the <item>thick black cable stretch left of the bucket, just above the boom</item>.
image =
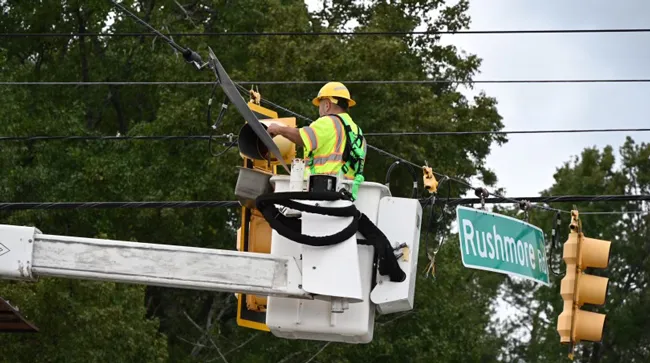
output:
[[0, 203], [0, 211], [28, 209], [143, 209], [143, 208], [223, 208], [239, 206], [238, 201], [168, 201], [168, 202], [33, 202]]

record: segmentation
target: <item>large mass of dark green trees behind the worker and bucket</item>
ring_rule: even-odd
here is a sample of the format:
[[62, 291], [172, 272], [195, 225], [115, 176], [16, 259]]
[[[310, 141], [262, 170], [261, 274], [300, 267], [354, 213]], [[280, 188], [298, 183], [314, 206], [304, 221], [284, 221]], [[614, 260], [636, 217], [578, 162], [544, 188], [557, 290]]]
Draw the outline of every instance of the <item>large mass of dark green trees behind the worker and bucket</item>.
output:
[[[359, 31], [466, 28], [467, 1], [325, 2], [310, 13], [296, 0], [127, 0], [145, 21], [165, 33], [334, 31], [356, 21]], [[0, 4], [3, 33], [144, 33], [109, 1]], [[443, 46], [439, 36], [174, 37], [202, 55], [214, 49], [233, 80], [349, 80], [424, 78], [471, 80], [480, 59]], [[13, 37], [0, 43], [0, 74], [7, 81], [206, 81], [160, 38]], [[262, 97], [310, 118], [320, 85], [265, 85]], [[5, 86], [0, 97], [3, 135], [206, 134], [212, 86]], [[470, 100], [456, 82], [430, 85], [350, 86], [358, 107], [352, 117], [364, 132], [398, 130], [500, 130], [496, 101]], [[217, 91], [216, 114], [223, 99]], [[280, 111], [281, 116], [290, 116]], [[214, 118], [212, 119], [214, 122]], [[304, 122], [299, 122], [304, 125]], [[242, 119], [228, 111], [219, 134], [237, 133]], [[370, 143], [459, 178], [496, 178], [485, 166], [500, 135], [431, 140], [376, 138]], [[203, 141], [51, 141], [3, 143], [0, 199], [33, 201], [232, 200], [237, 152], [212, 157]], [[372, 150], [366, 179], [384, 181], [393, 162]], [[402, 178], [407, 173], [402, 173]], [[395, 183], [391, 183], [394, 185]], [[408, 187], [395, 189], [405, 195]], [[407, 185], [406, 183], [404, 183]], [[447, 188], [451, 188], [447, 190]], [[458, 196], [458, 184], [440, 193]], [[62, 210], [2, 212], [0, 222], [34, 225], [44, 233], [188, 246], [235, 247], [238, 209]], [[450, 219], [432, 235], [446, 236]], [[453, 238], [446, 236], [445, 238]], [[433, 239], [433, 238], [432, 238]], [[433, 242], [430, 242], [433, 243]], [[489, 318], [501, 277], [462, 268], [448, 243], [437, 258], [436, 280], [419, 277], [416, 310], [382, 317], [367, 346], [331, 344], [319, 361], [495, 361], [503, 344]], [[420, 256], [420, 266], [427, 261]], [[3, 296], [21, 306], [44, 331], [0, 338], [1, 359], [34, 361], [218, 360], [303, 361], [321, 343], [284, 341], [239, 328], [231, 294], [99, 282], [45, 279], [34, 285], [1, 283]], [[143, 295], [144, 294], [144, 295]], [[64, 310], [64, 311], [63, 311]], [[490, 332], [487, 334], [486, 332]], [[165, 336], [165, 342], [160, 338]], [[121, 340], [117, 349], [113, 339]], [[252, 340], [249, 340], [252, 339]], [[4, 344], [9, 342], [10, 344]], [[34, 342], [37, 342], [35, 344]], [[118, 344], [118, 343], [115, 343]], [[8, 348], [9, 347], [9, 348]], [[136, 358], [133, 358], [137, 356]]]

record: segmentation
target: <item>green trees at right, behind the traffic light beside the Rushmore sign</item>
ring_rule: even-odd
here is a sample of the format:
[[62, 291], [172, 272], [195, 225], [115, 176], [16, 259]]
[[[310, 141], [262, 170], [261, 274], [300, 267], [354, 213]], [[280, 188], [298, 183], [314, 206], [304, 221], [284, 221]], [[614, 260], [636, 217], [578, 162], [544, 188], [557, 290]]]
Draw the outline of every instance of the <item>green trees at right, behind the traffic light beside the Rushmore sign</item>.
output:
[[[650, 188], [650, 145], [636, 144], [628, 138], [620, 149], [619, 166], [612, 147], [603, 150], [585, 149], [580, 157], [558, 168], [555, 184], [543, 195], [615, 195], [647, 194]], [[571, 210], [572, 204], [554, 205]], [[578, 347], [576, 362], [645, 362], [650, 359], [648, 342], [648, 276], [650, 260], [648, 236], [650, 219], [647, 206], [640, 202], [599, 201], [581, 203], [579, 212], [613, 212], [613, 214], [581, 214], [580, 219], [586, 236], [612, 241], [609, 266], [606, 270], [593, 270], [595, 275], [609, 278], [609, 290], [603, 307], [585, 306], [586, 310], [607, 314], [602, 343], [584, 342]], [[623, 213], [645, 211], [645, 213]], [[532, 288], [527, 284], [513, 284], [511, 295], [530, 299], [513, 303], [524, 311], [524, 319], [514, 328], [526, 327], [529, 339], [514, 344], [508, 352], [511, 358], [525, 362], [567, 361], [567, 347], [559, 344], [557, 317], [562, 312], [560, 282], [565, 268], [562, 243], [569, 233], [568, 214], [562, 218], [560, 244], [552, 258], [553, 268], [560, 274], [553, 279], [550, 288]], [[535, 213], [532, 223], [552, 228], [555, 216]]]

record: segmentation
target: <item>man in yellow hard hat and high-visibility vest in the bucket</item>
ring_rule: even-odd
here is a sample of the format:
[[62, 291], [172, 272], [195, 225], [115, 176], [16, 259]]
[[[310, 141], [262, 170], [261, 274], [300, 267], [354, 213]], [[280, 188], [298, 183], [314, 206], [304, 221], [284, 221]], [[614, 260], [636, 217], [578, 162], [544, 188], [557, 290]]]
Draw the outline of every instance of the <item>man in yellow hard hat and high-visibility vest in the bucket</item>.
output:
[[366, 142], [363, 132], [352, 121], [348, 110], [356, 102], [340, 82], [325, 84], [312, 100], [320, 117], [302, 128], [271, 124], [267, 129], [274, 137], [281, 135], [303, 147], [308, 172], [337, 175], [353, 179], [352, 196], [356, 199], [359, 185], [364, 181]]

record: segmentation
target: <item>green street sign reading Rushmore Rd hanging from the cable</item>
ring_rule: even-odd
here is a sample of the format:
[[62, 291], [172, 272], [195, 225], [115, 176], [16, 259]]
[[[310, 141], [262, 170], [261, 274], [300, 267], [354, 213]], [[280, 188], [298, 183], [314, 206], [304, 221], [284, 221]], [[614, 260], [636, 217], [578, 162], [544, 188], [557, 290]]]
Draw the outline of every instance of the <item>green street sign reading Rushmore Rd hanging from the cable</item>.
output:
[[541, 229], [483, 210], [459, 206], [456, 212], [465, 267], [550, 285]]

